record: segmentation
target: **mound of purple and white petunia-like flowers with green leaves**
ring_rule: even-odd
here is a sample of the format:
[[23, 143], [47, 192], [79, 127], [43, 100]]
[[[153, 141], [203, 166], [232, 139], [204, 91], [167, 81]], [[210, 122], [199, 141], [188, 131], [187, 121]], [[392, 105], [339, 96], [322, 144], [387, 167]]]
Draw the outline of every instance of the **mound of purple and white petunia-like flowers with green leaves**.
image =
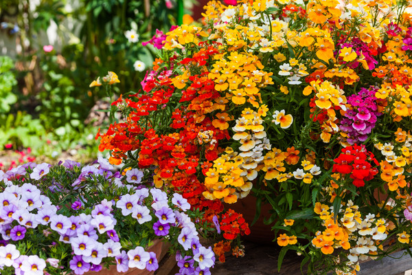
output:
[[[208, 272], [214, 253], [199, 243], [187, 200], [146, 187], [140, 170], [123, 176], [111, 169], [100, 158], [98, 167], [27, 163], [1, 173], [2, 274], [83, 274], [101, 270], [104, 263], [115, 263], [118, 272], [133, 267], [153, 271], [158, 258], [150, 247], [146, 250], [158, 236], [175, 240], [199, 271]], [[39, 238], [48, 247], [45, 252], [30, 245]]]

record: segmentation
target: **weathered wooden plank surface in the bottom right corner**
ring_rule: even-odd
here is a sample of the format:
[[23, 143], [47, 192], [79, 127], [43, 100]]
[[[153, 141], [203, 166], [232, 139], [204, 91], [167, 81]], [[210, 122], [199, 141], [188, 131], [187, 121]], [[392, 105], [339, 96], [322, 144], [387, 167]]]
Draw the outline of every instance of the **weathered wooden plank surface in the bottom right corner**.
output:
[[358, 275], [396, 275], [412, 269], [412, 259], [406, 250], [398, 251], [379, 261], [361, 263]]

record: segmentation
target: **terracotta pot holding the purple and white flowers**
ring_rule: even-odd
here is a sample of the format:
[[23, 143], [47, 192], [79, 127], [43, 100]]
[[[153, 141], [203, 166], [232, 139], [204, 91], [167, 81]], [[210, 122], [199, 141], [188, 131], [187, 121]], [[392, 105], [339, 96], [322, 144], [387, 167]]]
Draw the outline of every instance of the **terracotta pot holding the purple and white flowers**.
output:
[[[161, 241], [161, 239], [156, 239], [153, 241], [153, 245], [148, 248], [148, 252], [155, 252], [157, 261], [160, 263], [161, 259], [165, 256], [170, 248], [170, 243]], [[155, 274], [154, 271], [150, 272], [148, 270], [139, 270], [138, 268], [130, 268], [127, 272], [117, 272], [116, 265], [111, 265], [107, 270], [103, 268], [100, 272], [86, 272], [84, 275], [152, 275]]]

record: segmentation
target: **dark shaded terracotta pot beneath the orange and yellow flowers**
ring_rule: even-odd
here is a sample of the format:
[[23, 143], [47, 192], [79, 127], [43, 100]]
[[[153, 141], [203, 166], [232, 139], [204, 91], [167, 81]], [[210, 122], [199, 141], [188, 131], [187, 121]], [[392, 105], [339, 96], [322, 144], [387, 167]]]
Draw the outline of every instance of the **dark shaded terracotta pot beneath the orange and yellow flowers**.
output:
[[[236, 203], [225, 204], [225, 208], [233, 209], [236, 212], [243, 215], [245, 221], [251, 225], [253, 219], [255, 219], [256, 213], [256, 197], [248, 195], [244, 199], [238, 199]], [[272, 210], [272, 206], [268, 203], [263, 204], [260, 207], [260, 217], [255, 224], [251, 225], [251, 234], [242, 236], [242, 239], [253, 241], [256, 243], [271, 243], [275, 239], [275, 234], [271, 230], [271, 225], [266, 225], [263, 219], [271, 217], [269, 210]]]

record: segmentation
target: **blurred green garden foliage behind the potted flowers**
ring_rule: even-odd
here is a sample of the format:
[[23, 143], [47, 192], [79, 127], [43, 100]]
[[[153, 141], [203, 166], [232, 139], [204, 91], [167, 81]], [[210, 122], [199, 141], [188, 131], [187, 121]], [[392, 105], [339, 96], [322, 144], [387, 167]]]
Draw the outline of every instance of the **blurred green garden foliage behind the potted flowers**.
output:
[[[141, 42], [176, 25], [182, 2], [1, 0], [0, 41], [8, 45], [0, 42], [0, 150], [31, 146], [36, 155], [57, 157], [80, 144], [93, 157], [97, 126], [87, 117], [106, 94], [89, 84], [113, 71], [115, 94], [139, 91], [145, 71], [133, 64], [151, 67], [158, 51]], [[185, 0], [183, 12], [191, 14], [194, 3]], [[128, 41], [128, 30], [139, 41]]]

